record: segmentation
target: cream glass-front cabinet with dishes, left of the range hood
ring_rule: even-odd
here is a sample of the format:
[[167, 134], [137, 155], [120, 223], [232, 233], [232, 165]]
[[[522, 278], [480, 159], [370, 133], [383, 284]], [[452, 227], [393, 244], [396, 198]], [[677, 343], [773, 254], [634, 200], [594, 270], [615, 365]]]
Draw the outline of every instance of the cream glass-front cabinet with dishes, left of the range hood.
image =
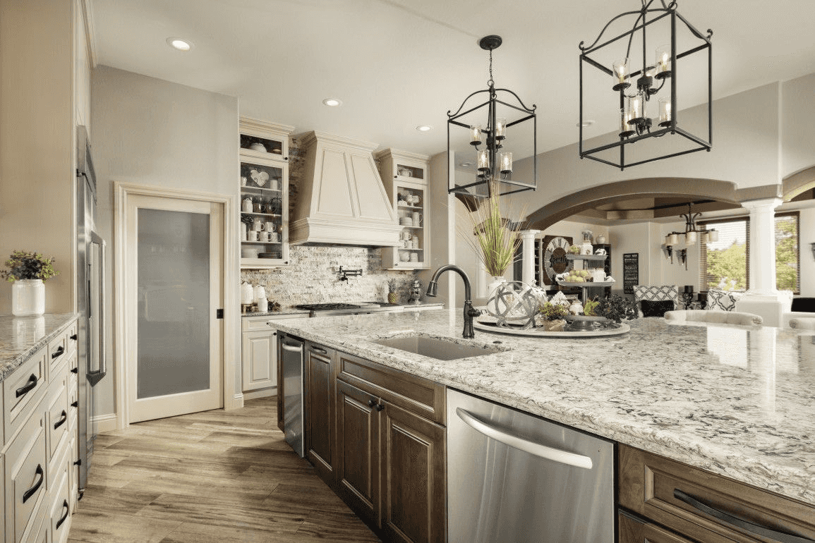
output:
[[240, 268], [289, 264], [289, 134], [240, 117]]

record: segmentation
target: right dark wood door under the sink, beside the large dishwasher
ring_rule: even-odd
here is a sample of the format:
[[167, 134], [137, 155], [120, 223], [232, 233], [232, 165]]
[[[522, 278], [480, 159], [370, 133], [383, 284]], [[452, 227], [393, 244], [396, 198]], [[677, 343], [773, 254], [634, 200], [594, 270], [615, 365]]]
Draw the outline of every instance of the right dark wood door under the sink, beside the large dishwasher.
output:
[[380, 412], [381, 526], [386, 541], [447, 539], [444, 427], [386, 403]]

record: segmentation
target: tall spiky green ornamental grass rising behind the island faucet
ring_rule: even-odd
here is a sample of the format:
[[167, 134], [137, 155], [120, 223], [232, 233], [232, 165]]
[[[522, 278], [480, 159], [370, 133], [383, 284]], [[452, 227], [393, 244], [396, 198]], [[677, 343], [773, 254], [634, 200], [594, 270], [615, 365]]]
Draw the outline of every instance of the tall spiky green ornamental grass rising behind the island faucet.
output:
[[[504, 275], [513, 264], [521, 245], [522, 219], [526, 208], [517, 208], [509, 196], [500, 196], [500, 182], [490, 182], [490, 196], [468, 208], [472, 230], [460, 228], [458, 234], [472, 247], [492, 277]], [[465, 221], [456, 221], [456, 225]]]

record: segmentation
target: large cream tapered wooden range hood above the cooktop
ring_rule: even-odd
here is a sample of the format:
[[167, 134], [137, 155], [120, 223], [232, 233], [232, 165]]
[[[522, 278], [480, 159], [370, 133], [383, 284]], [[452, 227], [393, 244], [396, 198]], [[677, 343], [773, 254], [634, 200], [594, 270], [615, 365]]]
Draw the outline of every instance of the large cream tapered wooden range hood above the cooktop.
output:
[[289, 243], [399, 246], [402, 227], [371, 154], [379, 146], [322, 132], [296, 138], [305, 167]]

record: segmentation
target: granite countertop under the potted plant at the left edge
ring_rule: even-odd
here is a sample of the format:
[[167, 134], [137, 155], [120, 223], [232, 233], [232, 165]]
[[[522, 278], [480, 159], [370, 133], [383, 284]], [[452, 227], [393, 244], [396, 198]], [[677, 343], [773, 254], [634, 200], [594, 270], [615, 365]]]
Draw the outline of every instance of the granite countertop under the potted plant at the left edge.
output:
[[76, 313], [46, 313], [41, 317], [0, 315], [0, 381], [76, 317]]

